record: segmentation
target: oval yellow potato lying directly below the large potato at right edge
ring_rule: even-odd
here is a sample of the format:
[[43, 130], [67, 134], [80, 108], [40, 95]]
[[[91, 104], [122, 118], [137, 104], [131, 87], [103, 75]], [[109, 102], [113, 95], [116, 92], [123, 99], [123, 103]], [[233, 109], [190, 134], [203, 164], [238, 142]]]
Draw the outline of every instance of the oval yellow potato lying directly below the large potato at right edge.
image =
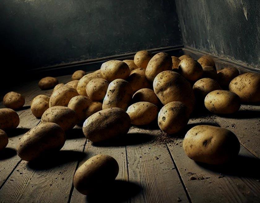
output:
[[204, 104], [210, 112], [231, 114], [239, 110], [240, 98], [231, 91], [215, 90], [207, 94]]

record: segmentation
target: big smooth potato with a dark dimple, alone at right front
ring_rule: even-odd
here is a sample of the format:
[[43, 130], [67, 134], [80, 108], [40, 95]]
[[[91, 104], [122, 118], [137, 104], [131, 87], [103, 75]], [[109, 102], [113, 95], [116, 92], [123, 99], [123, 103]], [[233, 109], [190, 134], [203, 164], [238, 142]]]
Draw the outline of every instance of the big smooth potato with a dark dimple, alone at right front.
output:
[[240, 143], [230, 130], [197, 125], [185, 135], [183, 148], [185, 154], [196, 162], [223, 164], [236, 158]]

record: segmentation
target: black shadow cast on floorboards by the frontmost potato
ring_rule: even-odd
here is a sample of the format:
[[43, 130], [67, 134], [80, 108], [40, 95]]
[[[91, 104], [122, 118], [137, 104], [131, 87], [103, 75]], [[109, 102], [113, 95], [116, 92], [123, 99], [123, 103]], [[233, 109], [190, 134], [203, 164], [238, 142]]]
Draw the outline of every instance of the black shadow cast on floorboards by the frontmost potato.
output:
[[97, 192], [86, 196], [86, 201], [89, 203], [125, 202], [131, 197], [139, 194], [141, 191], [141, 186], [136, 183], [124, 180], [115, 180], [108, 187], [104, 187], [104, 189], [98, 188]]

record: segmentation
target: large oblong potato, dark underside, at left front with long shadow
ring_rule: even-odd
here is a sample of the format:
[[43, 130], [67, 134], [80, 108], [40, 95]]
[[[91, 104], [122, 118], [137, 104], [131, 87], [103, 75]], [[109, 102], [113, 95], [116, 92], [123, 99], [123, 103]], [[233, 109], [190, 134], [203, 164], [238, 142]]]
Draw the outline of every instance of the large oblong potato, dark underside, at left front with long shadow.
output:
[[63, 129], [55, 123], [41, 123], [30, 129], [19, 140], [18, 156], [32, 161], [44, 154], [59, 151], [66, 141]]

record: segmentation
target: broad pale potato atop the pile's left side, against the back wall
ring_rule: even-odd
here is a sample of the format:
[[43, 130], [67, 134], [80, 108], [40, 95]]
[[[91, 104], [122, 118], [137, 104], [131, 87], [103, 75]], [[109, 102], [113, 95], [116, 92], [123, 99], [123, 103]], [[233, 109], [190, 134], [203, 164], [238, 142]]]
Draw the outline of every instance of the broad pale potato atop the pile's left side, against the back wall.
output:
[[123, 61], [111, 60], [101, 65], [101, 73], [104, 79], [112, 82], [115, 79], [126, 79], [130, 74], [128, 65]]

